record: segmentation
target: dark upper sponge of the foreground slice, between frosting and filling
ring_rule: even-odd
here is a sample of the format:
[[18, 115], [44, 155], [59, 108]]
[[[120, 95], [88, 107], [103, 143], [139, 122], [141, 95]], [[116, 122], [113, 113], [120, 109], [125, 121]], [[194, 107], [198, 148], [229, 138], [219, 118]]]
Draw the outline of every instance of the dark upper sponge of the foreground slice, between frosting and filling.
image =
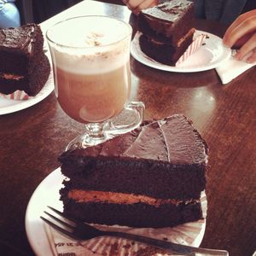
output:
[[89, 158], [84, 163], [84, 170], [73, 166], [76, 174], [72, 176], [67, 174], [70, 169], [62, 167], [62, 173], [72, 179], [72, 182], [64, 182], [67, 189], [95, 189], [186, 200], [199, 199], [206, 185], [205, 166], [194, 165], [186, 169], [177, 165], [168, 170], [168, 166], [154, 161], [107, 160], [99, 157], [97, 163], [94, 162]]

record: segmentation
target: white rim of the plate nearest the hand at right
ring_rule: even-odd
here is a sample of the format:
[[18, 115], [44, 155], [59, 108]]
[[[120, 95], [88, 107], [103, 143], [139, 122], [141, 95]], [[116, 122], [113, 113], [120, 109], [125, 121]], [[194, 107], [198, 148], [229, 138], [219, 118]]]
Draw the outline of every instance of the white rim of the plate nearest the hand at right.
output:
[[[202, 71], [207, 71], [210, 69], [213, 69], [215, 67], [218, 67], [222, 62], [227, 61], [230, 56], [231, 56], [231, 49], [230, 48], [226, 48], [223, 46], [224, 49], [224, 53], [222, 55], [224, 55], [223, 59], [221, 59], [220, 61], [214, 61], [212, 63], [212, 65], [208, 65], [206, 67], [195, 67], [195, 68], [191, 68], [191, 67], [174, 67], [174, 66], [168, 66], [165, 64], [162, 64], [158, 61], [150, 61], [150, 57], [147, 56], [146, 57], [141, 57], [140, 55], [145, 55], [143, 53], [143, 51], [140, 49], [139, 45], [138, 45], [138, 49], [139, 49], [139, 54], [138, 55], [138, 50], [136, 47], [136, 44], [138, 44], [138, 38], [140, 36], [142, 32], [136, 32], [134, 38], [131, 41], [131, 55], [133, 56], [134, 59], [136, 59], [137, 61], [141, 62], [142, 64], [148, 66], [148, 67], [153, 67], [155, 69], [158, 70], [162, 70], [162, 71], [167, 71], [167, 72], [173, 72], [173, 73], [196, 73], [196, 72], [202, 72]], [[219, 38], [217, 35], [212, 34], [211, 32], [204, 32], [201, 30], [195, 30], [195, 33], [205, 33], [207, 34], [208, 37], [210, 38], [215, 38], [218, 41], [222, 41], [221, 38]], [[146, 55], [145, 55], [146, 56]], [[220, 55], [221, 57], [221, 55]]]

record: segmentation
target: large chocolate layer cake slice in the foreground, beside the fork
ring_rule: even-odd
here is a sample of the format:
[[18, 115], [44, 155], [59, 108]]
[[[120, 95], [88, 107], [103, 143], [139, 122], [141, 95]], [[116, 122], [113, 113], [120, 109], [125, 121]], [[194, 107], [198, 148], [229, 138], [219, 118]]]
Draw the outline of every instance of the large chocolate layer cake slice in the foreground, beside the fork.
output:
[[88, 223], [168, 227], [202, 218], [207, 144], [183, 115], [61, 154], [64, 212]]

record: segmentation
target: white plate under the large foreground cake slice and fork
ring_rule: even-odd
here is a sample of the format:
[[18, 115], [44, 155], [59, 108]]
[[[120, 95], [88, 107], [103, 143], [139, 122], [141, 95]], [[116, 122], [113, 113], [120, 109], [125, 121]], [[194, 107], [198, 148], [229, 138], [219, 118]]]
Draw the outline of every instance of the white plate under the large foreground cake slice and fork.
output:
[[[47, 206], [55, 207], [59, 210], [62, 210], [62, 202], [59, 201], [59, 189], [61, 189], [61, 183], [65, 177], [62, 176], [60, 168], [56, 169], [54, 172], [51, 172], [48, 177], [45, 177], [42, 183], [38, 185], [38, 188], [34, 191], [28, 206], [26, 208], [26, 235], [28, 241], [30, 242], [34, 253], [38, 256], [44, 255], [54, 255], [53, 248], [54, 242], [49, 243], [49, 232], [47, 231], [48, 225], [44, 224], [41, 220], [40, 216], [44, 214], [44, 211], [47, 209]], [[202, 209], [204, 215], [206, 216], [207, 212], [207, 198], [203, 193], [204, 199], [201, 199]], [[166, 229], [129, 229], [131, 233], [137, 234], [148, 234], [148, 236], [152, 237], [168, 237], [170, 241], [174, 241], [177, 243], [183, 243], [186, 245], [192, 245], [195, 247], [199, 247], [201, 244], [201, 240], [204, 236], [206, 227], [206, 220], [199, 220], [198, 222], [191, 222], [188, 224], [182, 224], [174, 228], [166, 228]], [[119, 227], [121, 228], [121, 227]], [[128, 229], [128, 228], [127, 228]], [[66, 242], [66, 245], [69, 244], [67, 242], [67, 238], [64, 236], [57, 237], [57, 241]], [[66, 240], [65, 240], [66, 239]], [[113, 238], [115, 239], [115, 238]], [[55, 241], [55, 242], [57, 242]], [[111, 241], [106, 237], [106, 242], [104, 238], [101, 238], [100, 241], [96, 241], [96, 239], [90, 240], [89, 244], [84, 245], [83, 250], [88, 250], [90, 247], [94, 248], [94, 251], [97, 248], [102, 252], [102, 247], [106, 244], [106, 250], [109, 249], [107, 244], [109, 245]], [[115, 240], [115, 243], [117, 240]], [[118, 240], [120, 241], [120, 239]], [[58, 242], [57, 242], [58, 243]], [[89, 251], [86, 251], [89, 252]], [[83, 253], [84, 254], [84, 253]], [[82, 255], [83, 255], [82, 254]], [[96, 253], [99, 255], [101, 253]], [[103, 253], [104, 255], [108, 255], [106, 251]], [[79, 255], [79, 254], [78, 254]], [[85, 253], [84, 255], [89, 255]], [[128, 255], [128, 254], [127, 254]], [[131, 254], [129, 254], [131, 255]]]

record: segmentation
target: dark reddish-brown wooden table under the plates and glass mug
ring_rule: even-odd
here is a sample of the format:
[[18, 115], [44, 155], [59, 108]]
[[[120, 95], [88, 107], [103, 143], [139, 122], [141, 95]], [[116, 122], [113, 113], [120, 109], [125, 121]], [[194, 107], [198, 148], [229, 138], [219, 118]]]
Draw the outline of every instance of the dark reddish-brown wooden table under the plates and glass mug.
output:
[[[119, 5], [84, 1], [61, 15], [136, 17]], [[197, 28], [222, 36], [225, 27], [198, 20]], [[169, 73], [131, 58], [133, 99], [143, 101], [146, 119], [184, 113], [210, 148], [207, 171], [207, 227], [201, 247], [252, 255], [256, 246], [256, 76], [255, 67], [223, 85], [214, 69]], [[1, 108], [1, 107], [0, 107]], [[0, 116], [0, 252], [31, 255], [26, 239], [26, 206], [33, 191], [59, 166], [57, 157], [83, 131], [70, 119], [52, 92], [44, 101]]]

